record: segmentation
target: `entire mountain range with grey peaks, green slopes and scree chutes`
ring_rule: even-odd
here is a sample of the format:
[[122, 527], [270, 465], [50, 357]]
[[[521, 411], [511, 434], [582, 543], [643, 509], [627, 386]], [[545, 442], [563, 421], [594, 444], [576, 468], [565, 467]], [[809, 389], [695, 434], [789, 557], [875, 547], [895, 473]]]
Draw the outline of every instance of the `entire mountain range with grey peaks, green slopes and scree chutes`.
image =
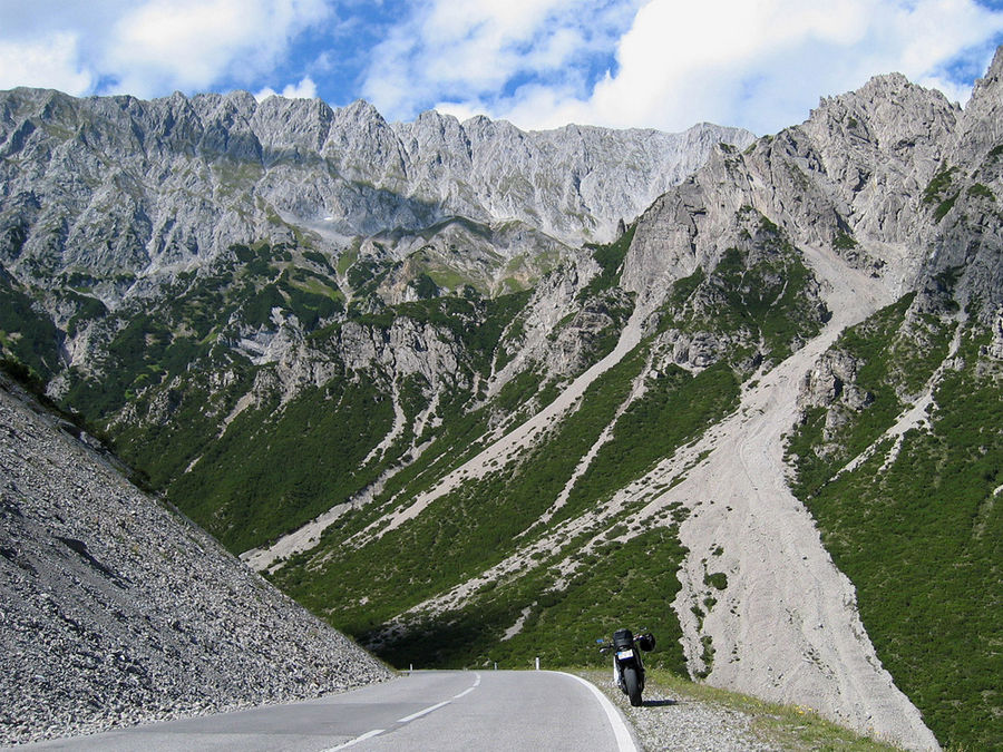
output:
[[1003, 51], [776, 135], [0, 94], [8, 371], [392, 664], [1003, 743]]

